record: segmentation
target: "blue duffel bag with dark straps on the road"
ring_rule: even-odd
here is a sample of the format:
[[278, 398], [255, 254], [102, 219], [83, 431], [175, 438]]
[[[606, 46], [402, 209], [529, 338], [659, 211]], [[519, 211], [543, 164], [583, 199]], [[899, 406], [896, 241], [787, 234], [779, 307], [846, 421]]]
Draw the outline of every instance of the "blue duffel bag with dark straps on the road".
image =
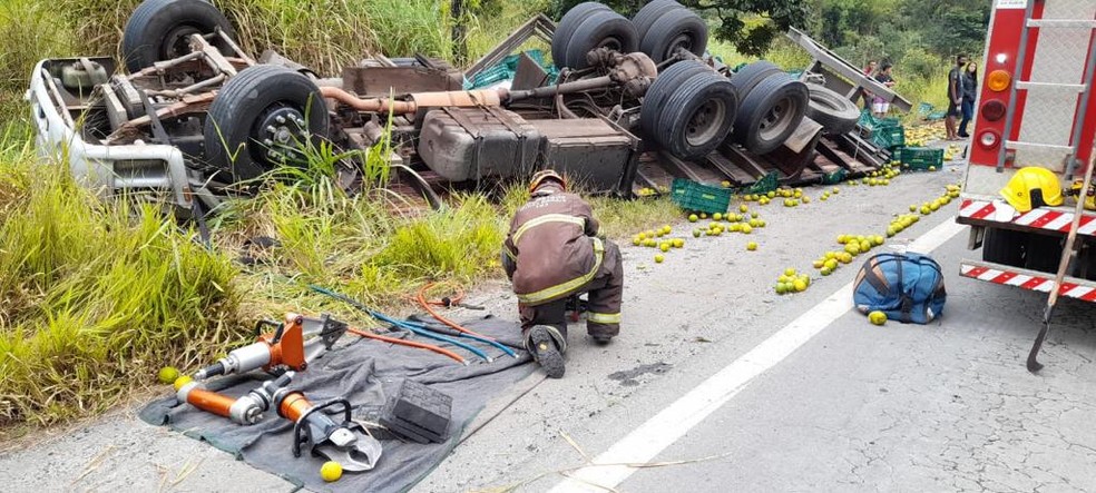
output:
[[940, 264], [921, 254], [877, 254], [864, 262], [852, 288], [863, 314], [880, 310], [903, 324], [927, 324], [943, 313], [948, 293]]

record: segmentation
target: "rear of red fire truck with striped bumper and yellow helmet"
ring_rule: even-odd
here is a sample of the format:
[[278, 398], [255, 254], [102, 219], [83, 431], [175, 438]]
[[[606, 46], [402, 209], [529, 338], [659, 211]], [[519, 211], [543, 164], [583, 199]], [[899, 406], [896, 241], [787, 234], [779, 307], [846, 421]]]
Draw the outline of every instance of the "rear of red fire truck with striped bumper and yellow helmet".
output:
[[1096, 0], [995, 0], [957, 221], [970, 225], [961, 275], [1049, 293], [1074, 223], [1059, 296], [1096, 300], [1093, 165]]

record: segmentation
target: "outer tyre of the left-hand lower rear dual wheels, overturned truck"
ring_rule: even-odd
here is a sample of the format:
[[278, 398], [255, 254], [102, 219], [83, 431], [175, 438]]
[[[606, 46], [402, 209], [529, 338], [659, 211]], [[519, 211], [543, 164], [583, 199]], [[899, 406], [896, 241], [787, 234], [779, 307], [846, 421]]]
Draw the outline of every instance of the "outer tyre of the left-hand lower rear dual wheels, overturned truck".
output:
[[655, 141], [679, 159], [704, 157], [727, 138], [737, 109], [730, 80], [711, 71], [694, 73], [666, 99]]

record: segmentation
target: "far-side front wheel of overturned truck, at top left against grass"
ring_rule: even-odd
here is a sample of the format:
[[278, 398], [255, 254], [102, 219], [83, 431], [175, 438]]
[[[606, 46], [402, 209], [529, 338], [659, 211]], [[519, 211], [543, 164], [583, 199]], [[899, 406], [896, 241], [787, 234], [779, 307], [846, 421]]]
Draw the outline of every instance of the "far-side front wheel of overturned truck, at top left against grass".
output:
[[[208, 34], [221, 28], [236, 39], [228, 19], [204, 0], [145, 0], [134, 10], [121, 38], [121, 51], [130, 72], [190, 52], [190, 34]], [[234, 55], [223, 39], [211, 43], [222, 53]]]

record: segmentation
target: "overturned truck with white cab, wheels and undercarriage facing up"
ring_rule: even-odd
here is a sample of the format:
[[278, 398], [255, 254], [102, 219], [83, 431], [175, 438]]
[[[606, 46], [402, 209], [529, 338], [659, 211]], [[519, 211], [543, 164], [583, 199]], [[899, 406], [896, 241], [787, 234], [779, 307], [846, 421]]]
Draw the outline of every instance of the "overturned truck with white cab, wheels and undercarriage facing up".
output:
[[[555, 80], [523, 56], [510, 83], [464, 89], [535, 34], [551, 45]], [[530, 20], [463, 72], [376, 57], [321, 77], [274, 51], [252, 58], [204, 0], [146, 0], [125, 28], [125, 71], [106, 57], [42, 60], [27, 97], [39, 148], [78, 178], [197, 213], [306, 166], [320, 142], [389, 144], [386, 185], [431, 206], [452, 187], [545, 167], [624, 197], [674, 177], [745, 186], [875, 169], [889, 156], [859, 137], [852, 100], [870, 90], [909, 102], [790, 36], [815, 59], [801, 76], [766, 61], [732, 71], [705, 56], [705, 22], [677, 2], [655, 0], [630, 20], [586, 2], [558, 26]], [[365, 166], [342, 159], [340, 185], [361, 186]]]

